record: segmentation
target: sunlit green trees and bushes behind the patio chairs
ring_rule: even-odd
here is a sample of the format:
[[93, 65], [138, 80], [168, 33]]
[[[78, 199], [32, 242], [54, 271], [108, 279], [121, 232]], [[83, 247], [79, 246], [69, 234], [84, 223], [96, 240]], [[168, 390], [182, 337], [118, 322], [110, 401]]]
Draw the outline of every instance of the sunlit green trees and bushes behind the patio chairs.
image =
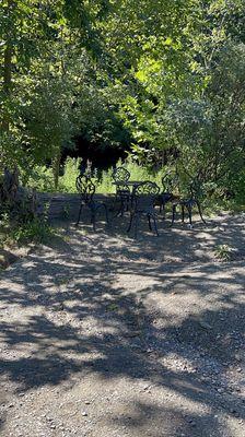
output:
[[71, 192], [82, 135], [130, 147], [133, 178], [174, 163], [244, 203], [244, 0], [2, 0], [0, 172]]

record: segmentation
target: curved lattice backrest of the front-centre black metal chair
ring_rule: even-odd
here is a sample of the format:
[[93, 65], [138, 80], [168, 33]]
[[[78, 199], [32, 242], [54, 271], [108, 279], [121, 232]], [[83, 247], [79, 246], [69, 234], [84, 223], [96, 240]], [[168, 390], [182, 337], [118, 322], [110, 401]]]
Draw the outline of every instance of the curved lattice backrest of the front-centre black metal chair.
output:
[[153, 208], [160, 188], [155, 182], [145, 180], [140, 184], [133, 192], [133, 209], [135, 211], [145, 211]]

